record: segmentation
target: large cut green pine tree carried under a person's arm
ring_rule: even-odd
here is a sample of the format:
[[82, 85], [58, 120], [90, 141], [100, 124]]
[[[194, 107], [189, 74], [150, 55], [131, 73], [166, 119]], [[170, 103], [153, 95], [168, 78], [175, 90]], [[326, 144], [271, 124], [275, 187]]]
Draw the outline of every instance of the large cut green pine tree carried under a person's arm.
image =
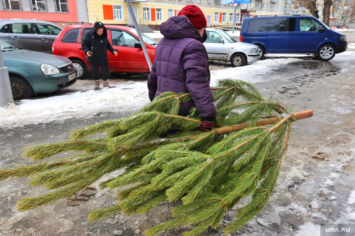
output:
[[[191, 99], [189, 93], [166, 92], [130, 117], [74, 130], [66, 142], [27, 147], [23, 156], [39, 162], [0, 169], [0, 180], [28, 177], [32, 186], [50, 190], [19, 200], [17, 208], [24, 211], [70, 197], [125, 168], [99, 185], [118, 190], [118, 203], [92, 211], [88, 219], [120, 211], [144, 214], [165, 199], [181, 200], [171, 211], [173, 219], [146, 230], [146, 235], [183, 224], [195, 227], [186, 236], [200, 235], [210, 226], [217, 229], [225, 211], [251, 196], [223, 228], [225, 234], [234, 232], [267, 203], [286, 155], [291, 122], [312, 116], [312, 111], [291, 114], [245, 81], [220, 80], [212, 90], [217, 116], [211, 131], [197, 128], [201, 120], [195, 108], [190, 116], [178, 115], [179, 105]], [[158, 138], [171, 129], [179, 132]], [[106, 137], [93, 138], [101, 133]], [[75, 154], [43, 160], [69, 151]]]

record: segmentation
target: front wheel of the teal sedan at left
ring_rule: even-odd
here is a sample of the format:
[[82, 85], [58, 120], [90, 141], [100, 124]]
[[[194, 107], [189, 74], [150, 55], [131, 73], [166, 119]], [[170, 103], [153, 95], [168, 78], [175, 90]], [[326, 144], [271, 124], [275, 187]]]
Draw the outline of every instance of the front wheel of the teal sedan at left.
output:
[[13, 100], [28, 99], [34, 96], [31, 85], [20, 76], [10, 75], [10, 84]]

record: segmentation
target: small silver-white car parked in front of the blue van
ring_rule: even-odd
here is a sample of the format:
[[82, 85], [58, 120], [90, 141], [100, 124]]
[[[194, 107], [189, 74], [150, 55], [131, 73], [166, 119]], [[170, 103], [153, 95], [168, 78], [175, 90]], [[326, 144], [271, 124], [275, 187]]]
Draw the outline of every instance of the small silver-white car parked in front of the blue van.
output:
[[262, 55], [255, 44], [238, 42], [222, 29], [206, 28], [206, 47], [210, 61], [230, 61], [233, 67], [242, 67], [247, 63], [256, 62]]

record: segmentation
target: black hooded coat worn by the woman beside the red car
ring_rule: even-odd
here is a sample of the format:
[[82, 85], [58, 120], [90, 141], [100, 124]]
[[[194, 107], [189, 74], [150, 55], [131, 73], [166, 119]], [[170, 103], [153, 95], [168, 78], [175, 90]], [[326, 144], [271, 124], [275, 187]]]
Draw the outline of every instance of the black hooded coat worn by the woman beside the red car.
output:
[[[96, 34], [96, 30], [99, 28], [104, 29], [101, 36]], [[86, 57], [86, 61], [89, 63], [108, 63], [109, 59], [107, 56], [107, 50], [112, 54], [115, 51], [107, 39], [107, 29], [101, 22], [95, 22], [93, 30], [89, 31], [83, 37], [81, 47], [83, 48], [85, 55], [87, 55], [88, 51], [93, 52], [91, 57]]]

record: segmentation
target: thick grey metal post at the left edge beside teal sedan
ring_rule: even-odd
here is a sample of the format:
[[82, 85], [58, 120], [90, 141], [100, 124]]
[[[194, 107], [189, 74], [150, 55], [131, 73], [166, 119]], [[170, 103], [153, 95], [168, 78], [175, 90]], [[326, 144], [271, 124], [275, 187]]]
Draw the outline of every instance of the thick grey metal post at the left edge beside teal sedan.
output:
[[13, 103], [13, 97], [9, 72], [5, 67], [4, 58], [2, 58], [2, 50], [0, 50], [0, 107], [5, 107], [8, 103]]

